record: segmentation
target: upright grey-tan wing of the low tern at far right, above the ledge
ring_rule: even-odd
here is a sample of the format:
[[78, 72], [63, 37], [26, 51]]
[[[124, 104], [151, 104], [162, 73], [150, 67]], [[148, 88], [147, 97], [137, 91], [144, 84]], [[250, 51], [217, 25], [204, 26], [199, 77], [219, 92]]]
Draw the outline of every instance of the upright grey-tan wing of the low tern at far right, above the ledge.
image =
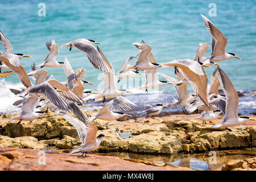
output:
[[224, 73], [220, 67], [217, 67], [216, 69], [218, 71], [216, 75], [226, 95], [226, 115], [223, 120], [225, 121], [226, 119], [237, 118], [239, 104], [237, 91], [226, 73]]

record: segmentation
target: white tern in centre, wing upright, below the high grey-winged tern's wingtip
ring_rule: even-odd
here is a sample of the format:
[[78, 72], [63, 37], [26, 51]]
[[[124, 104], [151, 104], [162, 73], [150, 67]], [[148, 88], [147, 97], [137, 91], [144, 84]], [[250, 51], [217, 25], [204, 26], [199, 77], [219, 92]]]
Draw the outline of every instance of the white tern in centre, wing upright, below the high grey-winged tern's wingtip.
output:
[[118, 90], [117, 89], [117, 80], [115, 77], [114, 69], [112, 65], [109, 63], [108, 59], [106, 59], [104, 53], [98, 48], [98, 52], [100, 52], [100, 55], [103, 57], [104, 61], [106, 64], [108, 64], [108, 67], [110, 68], [110, 72], [103, 72], [103, 93], [98, 93], [96, 95], [95, 101], [101, 101], [103, 99], [103, 102], [105, 102], [106, 98], [110, 97], [117, 97], [121, 96], [122, 94], [125, 93], [131, 93], [130, 91], [127, 90]]

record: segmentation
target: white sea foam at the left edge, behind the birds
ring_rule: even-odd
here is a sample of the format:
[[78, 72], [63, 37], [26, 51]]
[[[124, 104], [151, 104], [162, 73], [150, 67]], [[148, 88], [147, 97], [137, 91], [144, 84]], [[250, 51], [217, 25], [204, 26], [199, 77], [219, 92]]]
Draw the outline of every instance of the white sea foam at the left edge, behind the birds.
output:
[[21, 83], [14, 84], [13, 82], [5, 81], [5, 78], [0, 80], [0, 114], [18, 113], [20, 108], [13, 106], [13, 103], [20, 99], [10, 92], [10, 88], [19, 89], [23, 85]]

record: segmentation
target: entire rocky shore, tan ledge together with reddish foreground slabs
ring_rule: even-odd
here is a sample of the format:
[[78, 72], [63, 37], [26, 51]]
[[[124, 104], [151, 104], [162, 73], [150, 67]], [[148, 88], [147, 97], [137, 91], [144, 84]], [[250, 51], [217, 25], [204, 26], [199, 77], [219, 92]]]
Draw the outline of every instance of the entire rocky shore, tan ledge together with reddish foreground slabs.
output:
[[[95, 114], [94, 111], [84, 111], [86, 114]], [[16, 115], [16, 114], [14, 114]], [[114, 159], [117, 162], [117, 166], [113, 165], [114, 169], [120, 169], [122, 164], [128, 166], [128, 163], [137, 163], [134, 167], [131, 164], [131, 168], [134, 170], [149, 169], [154, 170], [154, 167], [162, 167], [156, 170], [187, 170], [189, 168], [179, 168], [172, 166], [171, 164], [163, 164], [158, 162], [150, 162], [147, 160], [137, 159], [123, 159], [114, 156], [103, 156], [97, 154], [90, 154], [90, 158], [84, 160], [80, 158], [81, 154], [67, 155], [72, 148], [79, 147], [81, 141], [77, 135], [75, 127], [70, 125], [61, 116], [47, 115], [44, 118], [39, 118], [34, 121], [22, 121], [20, 124], [10, 123], [10, 117], [13, 115], [1, 115], [0, 116], [0, 163], [4, 163], [2, 169], [23, 169], [22, 167], [13, 168], [15, 163], [13, 159], [6, 156], [6, 151], [18, 151], [20, 153], [17, 159], [22, 161], [23, 158], [29, 158], [30, 160], [38, 160], [37, 157], [31, 157], [39, 151], [46, 151], [47, 155], [52, 162], [57, 160], [63, 167], [31, 167], [31, 169], [53, 169], [53, 170], [69, 170], [79, 168], [69, 168], [64, 163], [78, 163], [86, 164], [85, 167], [80, 169], [89, 169], [89, 166], [94, 166], [98, 170], [104, 170], [104, 167], [97, 167], [97, 165], [88, 164], [89, 160], [96, 162], [100, 160], [98, 164], [101, 166], [103, 161]], [[255, 122], [247, 122], [243, 126], [230, 127], [229, 130], [224, 128], [212, 129], [213, 123], [221, 121], [222, 117], [217, 118], [212, 123], [202, 124], [199, 119], [191, 119], [196, 117], [193, 115], [167, 115], [164, 117], [152, 117], [144, 119], [131, 119], [121, 118], [119, 121], [102, 121], [96, 119], [96, 125], [98, 127], [98, 134], [105, 134], [112, 138], [104, 138], [100, 147], [97, 149], [100, 152], [110, 151], [127, 151], [138, 154], [167, 154], [174, 155], [177, 153], [183, 154], [195, 154], [201, 152], [207, 152], [212, 150], [230, 150], [236, 148], [251, 148], [256, 147], [256, 125]], [[251, 116], [250, 116], [251, 117]], [[256, 118], [256, 117], [254, 117]], [[27, 149], [26, 149], [27, 148]], [[32, 152], [30, 154], [30, 152]], [[96, 151], [97, 152], [97, 151]], [[252, 150], [254, 152], [254, 150]], [[17, 154], [18, 154], [17, 153]], [[255, 152], [254, 152], [255, 153]], [[28, 155], [28, 156], [27, 156]], [[255, 155], [255, 154], [253, 154]], [[56, 159], [55, 159], [56, 158]], [[63, 160], [61, 159], [63, 158]], [[48, 159], [48, 158], [47, 158]], [[16, 159], [15, 159], [16, 160]], [[80, 161], [81, 160], [81, 161]], [[122, 160], [119, 161], [119, 160]], [[232, 163], [232, 162], [231, 162]], [[233, 162], [234, 163], [234, 162]], [[223, 170], [234, 170], [236, 167], [230, 167], [233, 165], [226, 164], [226, 167], [222, 167]], [[241, 162], [240, 162], [241, 163]], [[239, 164], [240, 164], [239, 163]], [[243, 164], [246, 163], [246, 164]], [[255, 168], [255, 161], [249, 163], [243, 162], [242, 165], [247, 169]], [[7, 165], [7, 166], [6, 166]], [[17, 164], [18, 165], [18, 164]], [[141, 165], [151, 166], [149, 168], [143, 168]], [[15, 165], [14, 165], [15, 166]], [[33, 165], [32, 165], [33, 166]], [[87, 168], [87, 167], [88, 168]], [[233, 165], [236, 166], [236, 165]], [[237, 164], [237, 168], [242, 168]], [[116, 168], [115, 168], [116, 167]], [[90, 168], [91, 169], [91, 168]], [[245, 168], [243, 168], [245, 169]]]

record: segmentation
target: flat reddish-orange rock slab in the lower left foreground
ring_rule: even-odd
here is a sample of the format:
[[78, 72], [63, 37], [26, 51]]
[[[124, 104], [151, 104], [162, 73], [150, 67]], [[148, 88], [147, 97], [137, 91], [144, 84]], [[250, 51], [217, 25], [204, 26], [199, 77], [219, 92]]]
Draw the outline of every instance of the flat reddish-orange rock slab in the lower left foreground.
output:
[[123, 160], [114, 156], [89, 154], [67, 155], [63, 152], [46, 152], [24, 148], [0, 148], [0, 170], [191, 170], [185, 167], [164, 165], [145, 160]]

